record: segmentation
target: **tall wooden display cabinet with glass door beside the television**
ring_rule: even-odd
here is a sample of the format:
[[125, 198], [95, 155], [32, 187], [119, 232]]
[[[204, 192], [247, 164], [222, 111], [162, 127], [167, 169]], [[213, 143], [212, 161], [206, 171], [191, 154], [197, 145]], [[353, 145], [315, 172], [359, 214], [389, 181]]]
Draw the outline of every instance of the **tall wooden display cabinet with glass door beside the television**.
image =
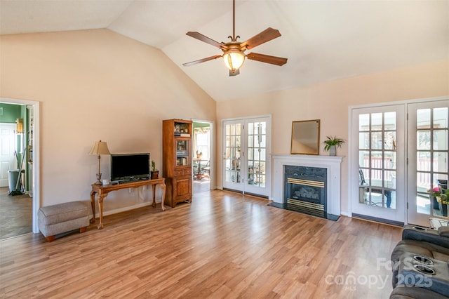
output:
[[163, 177], [166, 178], [166, 204], [192, 202], [192, 121], [162, 121]]

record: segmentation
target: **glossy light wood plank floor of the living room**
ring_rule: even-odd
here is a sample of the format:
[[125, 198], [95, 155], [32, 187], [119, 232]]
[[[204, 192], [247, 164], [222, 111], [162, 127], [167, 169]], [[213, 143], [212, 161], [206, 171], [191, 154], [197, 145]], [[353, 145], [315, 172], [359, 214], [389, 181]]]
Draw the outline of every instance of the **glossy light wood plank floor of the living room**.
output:
[[215, 190], [51, 243], [0, 241], [0, 298], [388, 298], [398, 227], [267, 203]]

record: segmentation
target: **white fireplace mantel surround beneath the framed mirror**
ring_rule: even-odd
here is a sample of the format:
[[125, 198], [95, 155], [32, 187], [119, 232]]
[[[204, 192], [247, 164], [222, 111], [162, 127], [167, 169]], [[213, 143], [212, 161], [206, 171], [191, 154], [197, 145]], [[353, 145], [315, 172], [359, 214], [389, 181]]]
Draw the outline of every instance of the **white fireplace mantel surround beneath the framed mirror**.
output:
[[341, 164], [343, 157], [311, 156], [304, 154], [274, 154], [273, 157], [273, 192], [274, 202], [283, 203], [283, 166], [309, 166], [326, 168], [328, 175], [327, 206], [328, 213], [340, 215]]

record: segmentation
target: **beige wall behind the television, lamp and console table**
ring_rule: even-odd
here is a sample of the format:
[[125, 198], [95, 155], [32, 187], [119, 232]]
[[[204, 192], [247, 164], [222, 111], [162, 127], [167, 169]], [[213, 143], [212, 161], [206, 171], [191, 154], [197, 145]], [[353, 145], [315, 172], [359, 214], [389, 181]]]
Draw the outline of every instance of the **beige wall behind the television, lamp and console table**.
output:
[[[161, 170], [163, 119], [215, 120], [215, 101], [166, 55], [107, 29], [1, 36], [0, 76], [1, 98], [40, 102], [42, 206], [89, 199], [97, 140], [112, 153], [150, 152]], [[120, 190], [105, 211], [150, 198]]]

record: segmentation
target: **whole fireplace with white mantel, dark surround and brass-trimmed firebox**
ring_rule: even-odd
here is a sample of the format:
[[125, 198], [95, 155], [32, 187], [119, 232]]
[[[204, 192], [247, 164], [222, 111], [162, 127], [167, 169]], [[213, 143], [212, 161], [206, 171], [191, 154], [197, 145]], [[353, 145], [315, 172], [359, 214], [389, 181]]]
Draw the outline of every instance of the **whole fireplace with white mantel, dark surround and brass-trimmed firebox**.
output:
[[270, 206], [337, 220], [342, 157], [274, 155]]

